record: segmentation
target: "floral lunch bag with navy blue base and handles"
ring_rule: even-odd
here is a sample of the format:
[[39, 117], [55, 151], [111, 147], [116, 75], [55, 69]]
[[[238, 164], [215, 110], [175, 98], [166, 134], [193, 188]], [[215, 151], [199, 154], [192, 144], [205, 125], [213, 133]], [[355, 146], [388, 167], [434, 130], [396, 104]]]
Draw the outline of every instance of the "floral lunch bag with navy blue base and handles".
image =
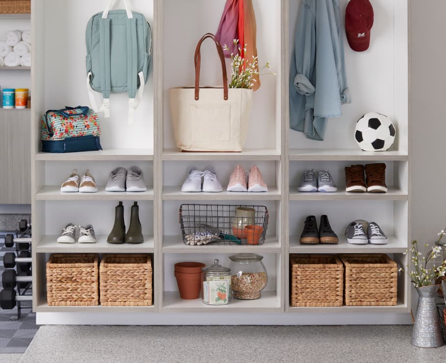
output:
[[48, 110], [42, 116], [41, 125], [44, 152], [102, 150], [98, 115], [86, 106]]

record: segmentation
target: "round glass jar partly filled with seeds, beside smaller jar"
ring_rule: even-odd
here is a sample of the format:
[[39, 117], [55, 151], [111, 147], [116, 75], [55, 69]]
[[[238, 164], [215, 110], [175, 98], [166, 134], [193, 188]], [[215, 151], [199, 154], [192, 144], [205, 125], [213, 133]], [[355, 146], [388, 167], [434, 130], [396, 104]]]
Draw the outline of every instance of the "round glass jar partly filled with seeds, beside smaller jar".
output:
[[268, 283], [268, 274], [262, 263], [263, 256], [255, 253], [239, 253], [230, 256], [232, 296], [236, 299], [254, 300], [261, 296]]

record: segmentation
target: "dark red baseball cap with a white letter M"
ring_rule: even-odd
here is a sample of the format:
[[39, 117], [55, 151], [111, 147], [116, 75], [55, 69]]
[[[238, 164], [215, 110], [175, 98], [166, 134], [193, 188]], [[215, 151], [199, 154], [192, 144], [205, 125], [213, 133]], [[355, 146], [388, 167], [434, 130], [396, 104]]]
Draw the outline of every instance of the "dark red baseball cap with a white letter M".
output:
[[346, 34], [350, 48], [356, 52], [369, 49], [373, 26], [373, 7], [369, 0], [350, 0], [346, 9]]

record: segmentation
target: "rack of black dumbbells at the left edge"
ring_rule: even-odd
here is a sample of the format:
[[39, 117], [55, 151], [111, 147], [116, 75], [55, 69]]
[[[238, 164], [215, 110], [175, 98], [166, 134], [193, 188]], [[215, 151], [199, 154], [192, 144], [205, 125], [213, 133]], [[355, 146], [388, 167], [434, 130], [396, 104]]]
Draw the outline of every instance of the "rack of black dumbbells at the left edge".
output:
[[[31, 225], [26, 220], [20, 221], [15, 238], [13, 234], [5, 236], [6, 247], [12, 247], [14, 244], [15, 252], [8, 252], [3, 258], [5, 271], [2, 275], [4, 291], [1, 291], [1, 298], [6, 298], [8, 301], [1, 301], [1, 304], [3, 309], [8, 303], [11, 309], [17, 306], [17, 315], [12, 315], [11, 320], [18, 320], [22, 309], [32, 309], [32, 306], [22, 306], [22, 302], [32, 301], [32, 264], [30, 261], [23, 261], [23, 259], [31, 259], [32, 256]], [[10, 257], [12, 257], [12, 262]], [[10, 273], [10, 271], [14, 271], [14, 267], [16, 273]], [[14, 293], [15, 288], [17, 289], [16, 293]]]

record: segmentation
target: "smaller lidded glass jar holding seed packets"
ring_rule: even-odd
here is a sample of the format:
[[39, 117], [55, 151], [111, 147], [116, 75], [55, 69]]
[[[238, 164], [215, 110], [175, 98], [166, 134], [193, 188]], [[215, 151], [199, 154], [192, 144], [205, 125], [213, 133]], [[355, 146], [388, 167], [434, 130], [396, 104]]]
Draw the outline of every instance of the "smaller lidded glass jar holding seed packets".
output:
[[231, 269], [218, 259], [201, 269], [201, 301], [207, 305], [226, 305], [231, 302]]

